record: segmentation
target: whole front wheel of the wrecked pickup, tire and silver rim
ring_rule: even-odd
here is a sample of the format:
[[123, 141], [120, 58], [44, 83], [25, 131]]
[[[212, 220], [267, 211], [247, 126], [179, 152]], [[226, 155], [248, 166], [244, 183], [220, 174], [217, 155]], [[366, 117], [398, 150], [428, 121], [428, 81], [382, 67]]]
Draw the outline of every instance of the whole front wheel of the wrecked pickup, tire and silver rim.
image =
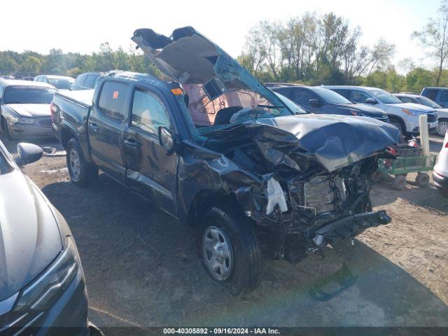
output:
[[200, 258], [207, 274], [234, 295], [244, 295], [261, 279], [262, 251], [248, 218], [230, 207], [212, 207], [202, 217]]

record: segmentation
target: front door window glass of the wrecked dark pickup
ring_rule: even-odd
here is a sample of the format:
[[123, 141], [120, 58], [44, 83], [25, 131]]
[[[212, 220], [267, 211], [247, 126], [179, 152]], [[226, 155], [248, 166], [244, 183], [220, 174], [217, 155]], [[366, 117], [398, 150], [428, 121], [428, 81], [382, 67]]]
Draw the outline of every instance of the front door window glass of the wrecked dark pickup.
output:
[[167, 107], [157, 94], [143, 89], [134, 92], [131, 125], [158, 134], [160, 126], [170, 127]]

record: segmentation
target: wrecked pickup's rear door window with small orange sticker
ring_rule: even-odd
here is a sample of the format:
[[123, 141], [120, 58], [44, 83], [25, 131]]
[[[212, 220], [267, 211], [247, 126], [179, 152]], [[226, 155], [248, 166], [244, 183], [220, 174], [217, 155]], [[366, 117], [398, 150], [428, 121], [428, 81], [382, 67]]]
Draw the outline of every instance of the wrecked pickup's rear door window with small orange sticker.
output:
[[98, 108], [104, 116], [120, 123], [125, 114], [127, 84], [118, 82], [104, 83], [99, 95]]

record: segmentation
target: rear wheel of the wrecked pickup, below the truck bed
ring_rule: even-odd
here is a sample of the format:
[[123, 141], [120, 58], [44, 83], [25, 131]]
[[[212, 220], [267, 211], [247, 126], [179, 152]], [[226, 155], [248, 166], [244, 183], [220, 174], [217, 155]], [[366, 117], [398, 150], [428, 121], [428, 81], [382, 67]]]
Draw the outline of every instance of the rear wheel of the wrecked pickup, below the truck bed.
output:
[[[98, 168], [89, 165], [84, 158], [83, 150], [80, 148], [78, 140], [71, 138], [66, 144], [66, 162], [69, 169], [70, 180], [80, 187], [89, 186], [98, 177]], [[74, 155], [78, 161], [75, 165]]]

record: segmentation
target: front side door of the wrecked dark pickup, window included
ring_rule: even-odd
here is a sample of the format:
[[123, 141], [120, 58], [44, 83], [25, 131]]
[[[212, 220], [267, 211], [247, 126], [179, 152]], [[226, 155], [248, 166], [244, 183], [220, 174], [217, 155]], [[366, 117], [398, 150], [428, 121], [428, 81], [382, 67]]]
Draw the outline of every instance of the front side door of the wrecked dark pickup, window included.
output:
[[159, 127], [174, 131], [169, 105], [162, 92], [134, 87], [130, 117], [123, 135], [127, 186], [153, 200], [169, 214], [176, 214], [177, 164], [158, 138]]

